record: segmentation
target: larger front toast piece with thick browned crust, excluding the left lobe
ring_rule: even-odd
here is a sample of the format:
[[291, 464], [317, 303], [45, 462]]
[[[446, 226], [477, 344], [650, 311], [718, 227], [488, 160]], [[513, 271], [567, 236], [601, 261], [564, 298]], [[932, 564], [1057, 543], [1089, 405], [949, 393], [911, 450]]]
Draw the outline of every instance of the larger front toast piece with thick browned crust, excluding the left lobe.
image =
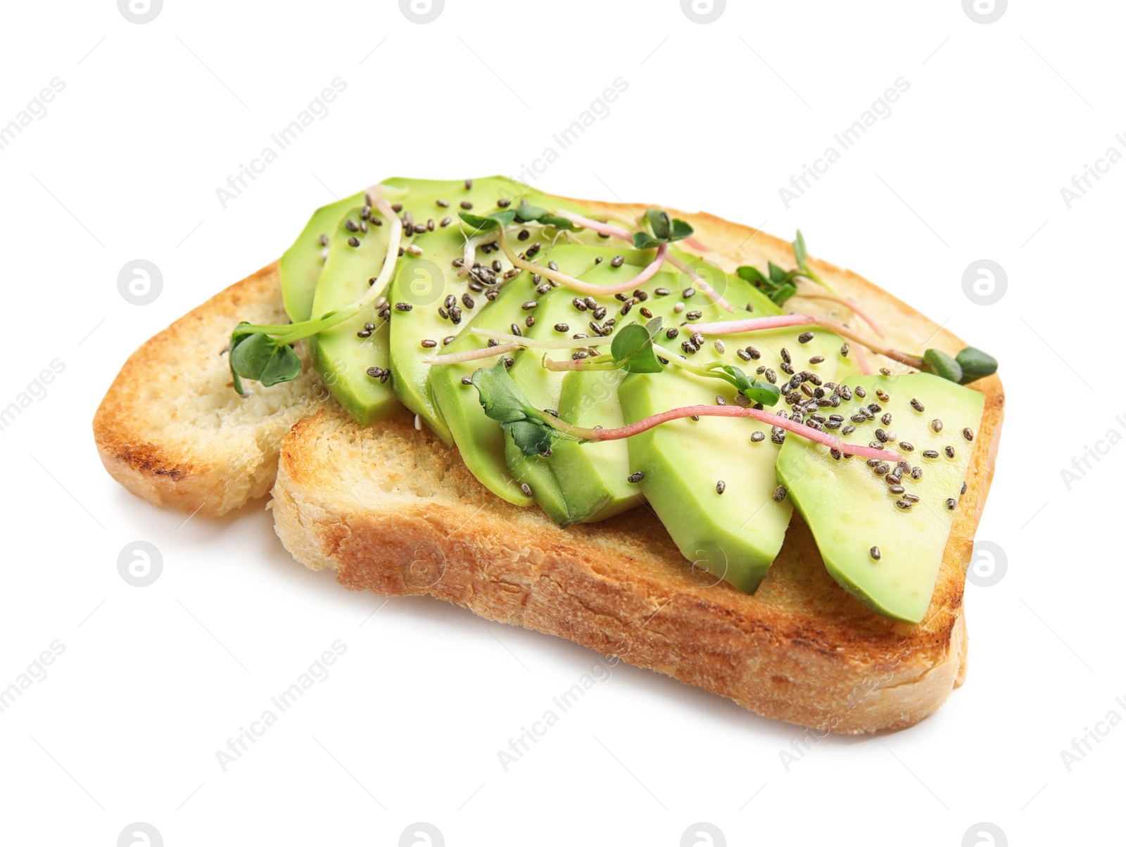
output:
[[[711, 215], [682, 216], [725, 270], [793, 264], [784, 241]], [[824, 262], [816, 269], [864, 303], [893, 347], [953, 355], [965, 346], [859, 276]], [[965, 672], [965, 572], [1004, 405], [998, 377], [974, 387], [986, 401], [967, 490], [919, 625], [876, 615], [838, 586], [797, 512], [781, 554], [749, 596], [694, 572], [647, 508], [560, 529], [538, 508], [502, 501], [456, 449], [405, 414], [364, 429], [330, 407], [297, 424], [282, 449], [275, 527], [294, 558], [333, 568], [350, 589], [429, 594], [821, 731], [908, 726], [938, 708]]]

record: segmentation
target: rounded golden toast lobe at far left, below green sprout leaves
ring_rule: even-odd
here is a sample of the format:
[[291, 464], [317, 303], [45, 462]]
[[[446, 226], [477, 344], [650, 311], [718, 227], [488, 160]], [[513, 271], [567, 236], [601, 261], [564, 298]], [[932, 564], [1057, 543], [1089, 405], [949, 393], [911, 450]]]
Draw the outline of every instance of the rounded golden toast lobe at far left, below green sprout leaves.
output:
[[129, 356], [93, 418], [109, 475], [157, 506], [223, 515], [265, 497], [289, 428], [331, 396], [309, 366], [293, 382], [231, 387], [225, 349], [240, 320], [288, 321], [277, 262], [235, 283]]

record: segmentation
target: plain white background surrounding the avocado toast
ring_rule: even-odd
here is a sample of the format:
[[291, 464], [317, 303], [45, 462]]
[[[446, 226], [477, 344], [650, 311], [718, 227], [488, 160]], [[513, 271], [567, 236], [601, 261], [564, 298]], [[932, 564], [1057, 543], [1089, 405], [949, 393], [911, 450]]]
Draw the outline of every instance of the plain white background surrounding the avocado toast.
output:
[[[0, 125], [53, 78], [65, 89], [0, 150], [0, 405], [65, 371], [0, 433], [0, 687], [65, 651], [0, 714], [0, 841], [111, 847], [132, 821], [169, 847], [397, 845], [413, 821], [450, 847], [671, 847], [696, 821], [730, 845], [957, 847], [981, 821], [995, 844], [1089, 844], [1112, 818], [1120, 837], [1126, 726], [1070, 770], [1061, 750], [1126, 719], [1126, 448], [1103, 443], [1070, 489], [1061, 471], [1126, 434], [1110, 389], [1126, 163], [1071, 208], [1061, 188], [1126, 152], [1121, 5], [1015, 0], [990, 25], [958, 0], [731, 2], [709, 25], [673, 0], [448, 0], [427, 25], [393, 0], [2, 16]], [[337, 77], [329, 115], [224, 209], [215, 189]], [[315, 206], [392, 175], [518, 176], [617, 77], [628, 90], [535, 185], [801, 226], [1002, 363], [978, 538], [1008, 570], [967, 586], [968, 679], [918, 726], [826, 739], [787, 770], [801, 730], [618, 666], [506, 773], [498, 750], [600, 657], [350, 594], [286, 554], [262, 503], [184, 523], [98, 462], [90, 420], [126, 356], [277, 257]], [[790, 175], [900, 77], [891, 116], [786, 208]], [[117, 291], [136, 258], [163, 274], [146, 306]], [[989, 306], [962, 287], [981, 258], [1008, 275]], [[137, 540], [163, 555], [148, 588], [117, 573]], [[331, 675], [221, 769], [216, 750], [338, 639]]]

